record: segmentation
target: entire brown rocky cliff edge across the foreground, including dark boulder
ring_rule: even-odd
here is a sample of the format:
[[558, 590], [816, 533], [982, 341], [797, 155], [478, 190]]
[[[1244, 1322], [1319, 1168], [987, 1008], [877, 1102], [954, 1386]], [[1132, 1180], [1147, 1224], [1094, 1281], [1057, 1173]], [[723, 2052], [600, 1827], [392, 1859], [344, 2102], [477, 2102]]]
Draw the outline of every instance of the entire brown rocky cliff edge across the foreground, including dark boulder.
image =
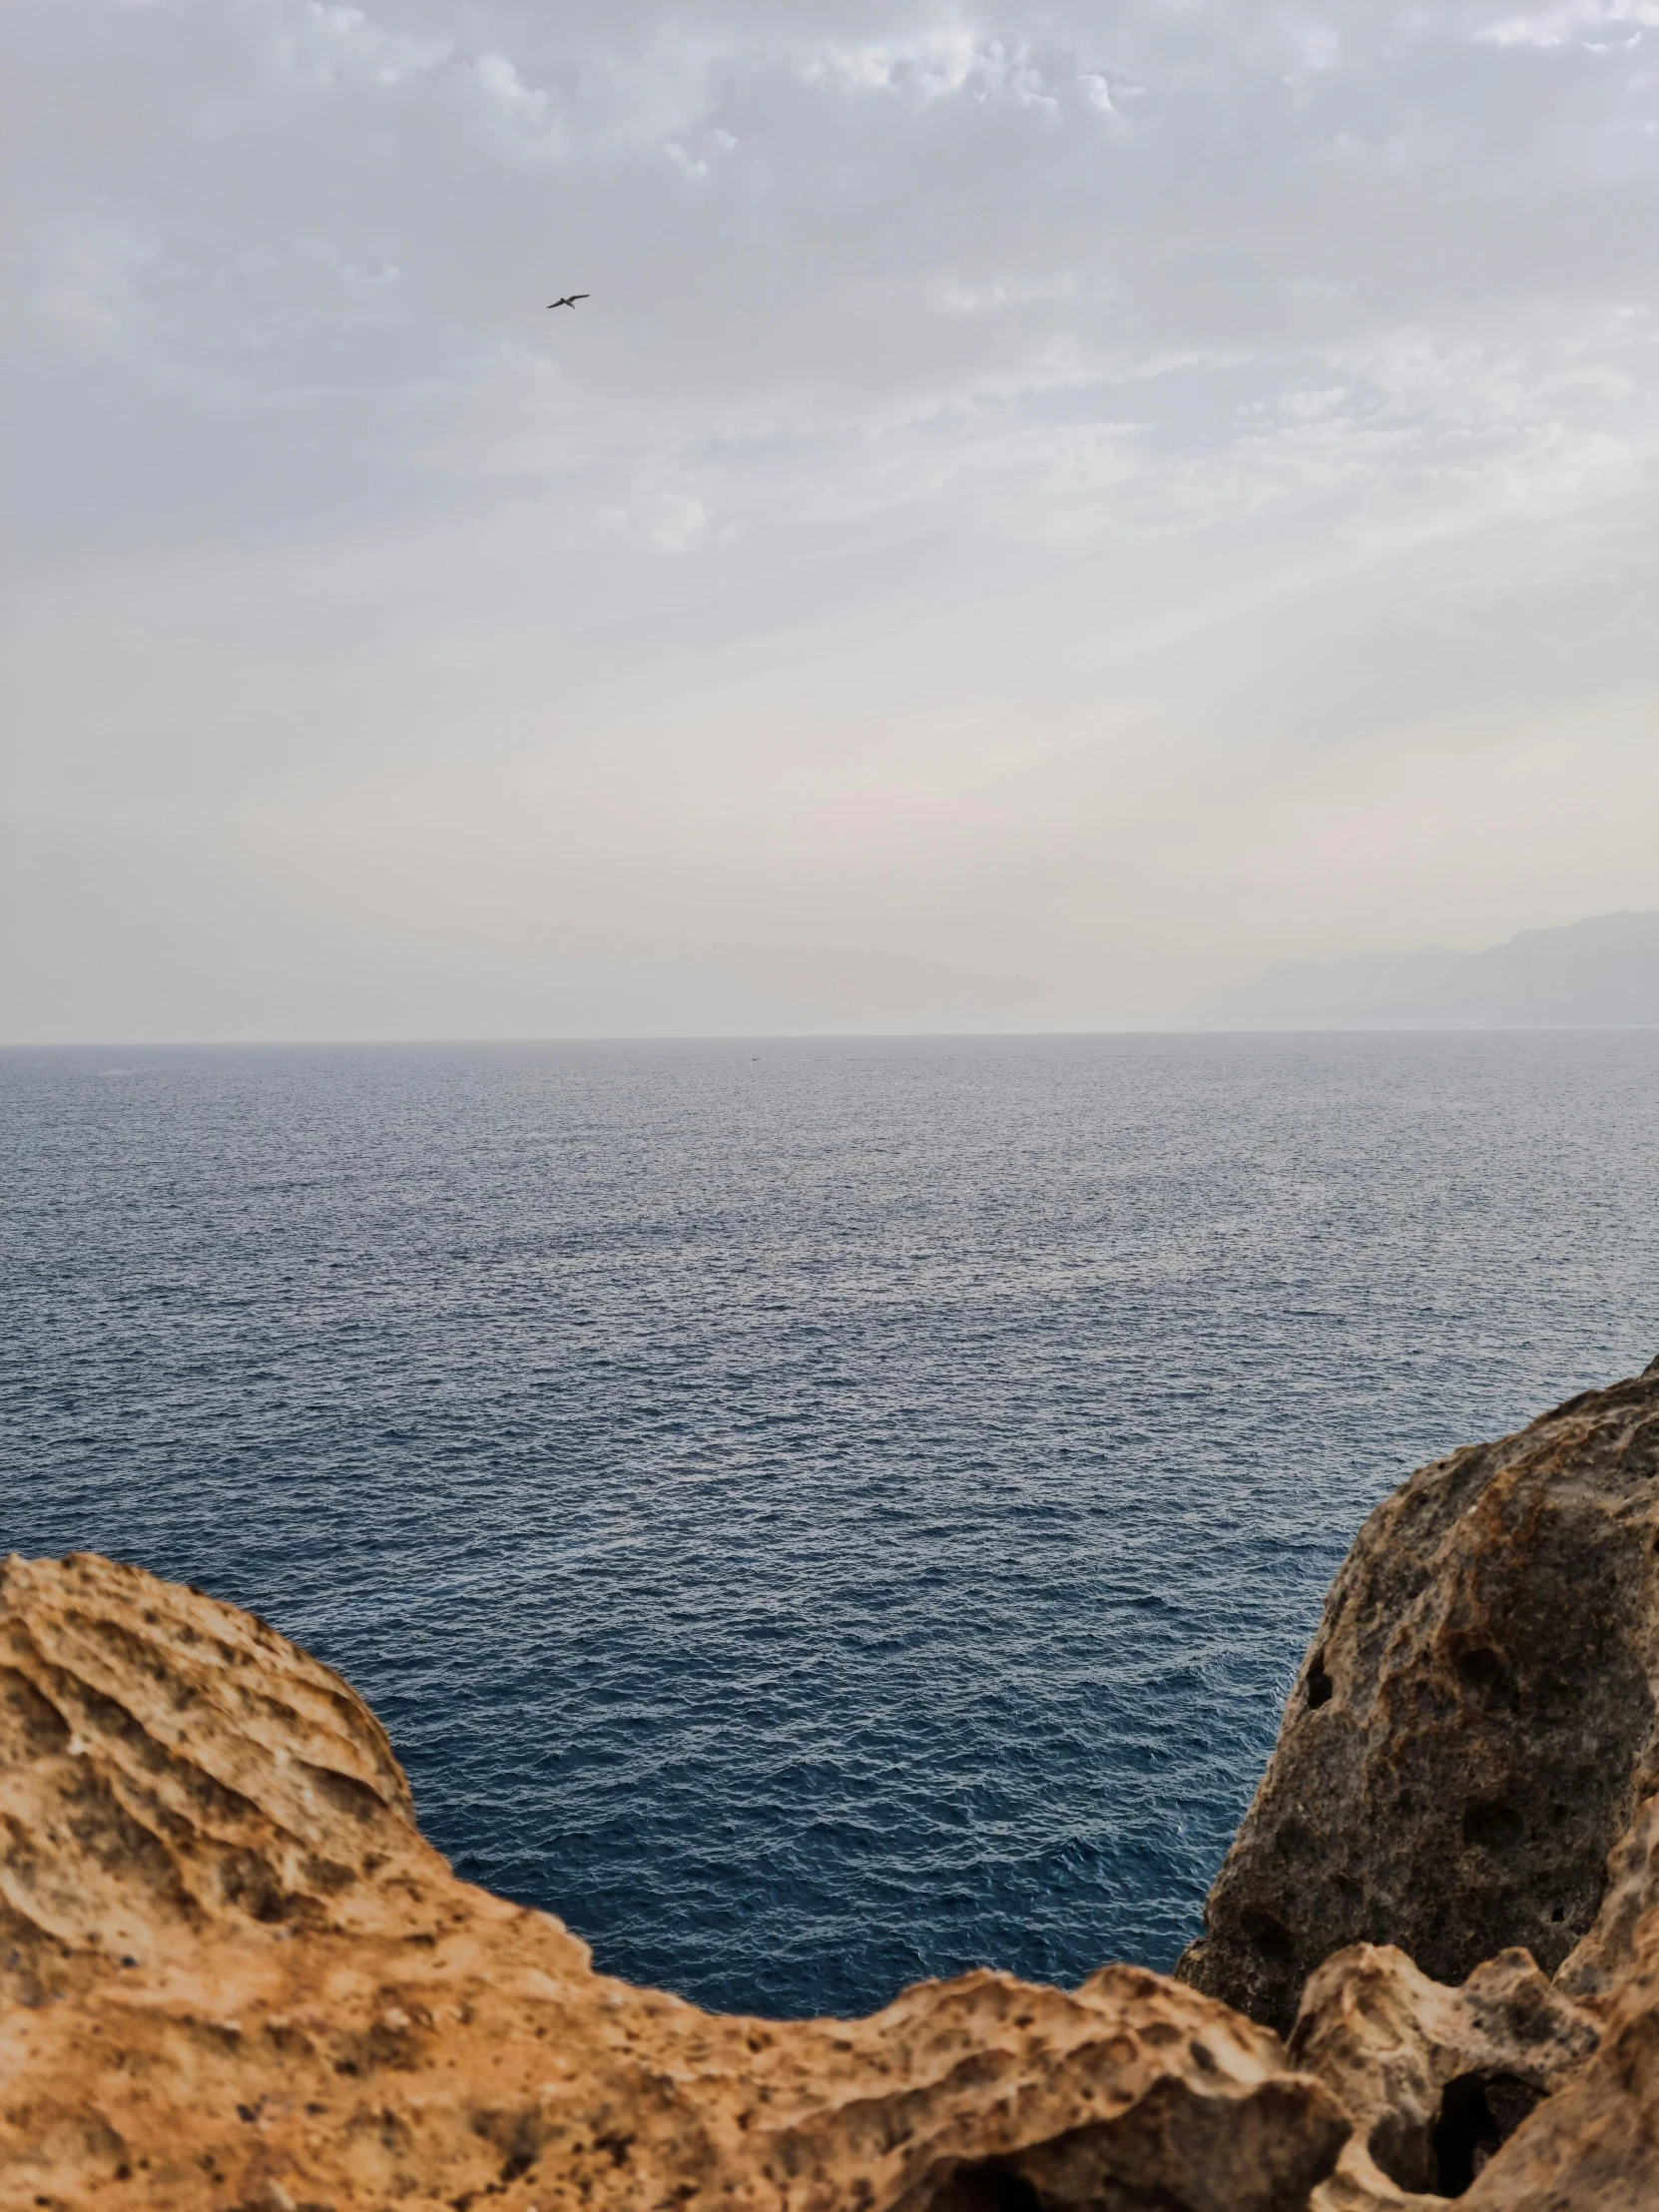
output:
[[1425, 1469], [1332, 1588], [1186, 1980], [790, 2024], [458, 1882], [263, 1621], [11, 1559], [0, 2205], [1652, 2208], [1657, 1540], [1659, 1367]]

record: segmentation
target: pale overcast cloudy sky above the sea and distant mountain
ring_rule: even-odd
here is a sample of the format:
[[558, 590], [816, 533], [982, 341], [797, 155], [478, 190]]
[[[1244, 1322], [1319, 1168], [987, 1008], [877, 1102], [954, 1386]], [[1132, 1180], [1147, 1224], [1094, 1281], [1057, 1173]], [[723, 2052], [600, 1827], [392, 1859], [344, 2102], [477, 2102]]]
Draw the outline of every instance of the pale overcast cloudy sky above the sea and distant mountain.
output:
[[1659, 0], [0, 35], [0, 1040], [1164, 1026], [1659, 907]]

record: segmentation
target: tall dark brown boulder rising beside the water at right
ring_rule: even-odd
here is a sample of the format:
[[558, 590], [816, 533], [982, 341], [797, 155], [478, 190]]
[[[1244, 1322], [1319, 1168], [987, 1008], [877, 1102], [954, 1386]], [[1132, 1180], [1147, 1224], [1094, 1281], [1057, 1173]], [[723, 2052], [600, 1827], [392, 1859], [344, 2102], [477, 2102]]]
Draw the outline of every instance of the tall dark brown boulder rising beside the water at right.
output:
[[1365, 1522], [1177, 1975], [1287, 2033], [1394, 1944], [1460, 1984], [1588, 1933], [1659, 1790], [1659, 1363], [1420, 1469]]

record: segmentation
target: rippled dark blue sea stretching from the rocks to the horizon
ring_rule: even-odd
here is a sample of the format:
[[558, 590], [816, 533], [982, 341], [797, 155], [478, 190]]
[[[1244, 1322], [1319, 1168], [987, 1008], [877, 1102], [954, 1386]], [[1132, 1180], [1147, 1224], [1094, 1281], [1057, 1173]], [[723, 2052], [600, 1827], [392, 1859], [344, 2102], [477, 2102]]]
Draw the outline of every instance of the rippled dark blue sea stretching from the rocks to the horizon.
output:
[[597, 1962], [1168, 1966], [1413, 1464], [1659, 1352], [1659, 1033], [0, 1055], [0, 1544]]

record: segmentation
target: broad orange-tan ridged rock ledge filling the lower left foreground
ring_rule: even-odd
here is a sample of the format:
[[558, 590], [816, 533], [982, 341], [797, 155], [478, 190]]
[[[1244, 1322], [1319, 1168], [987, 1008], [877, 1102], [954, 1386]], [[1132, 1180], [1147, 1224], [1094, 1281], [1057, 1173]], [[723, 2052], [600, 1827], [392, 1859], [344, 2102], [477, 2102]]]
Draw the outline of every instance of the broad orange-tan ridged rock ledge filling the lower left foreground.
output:
[[352, 1688], [97, 1557], [0, 1573], [0, 2205], [1301, 2212], [1349, 2121], [1135, 1966], [699, 2013], [458, 1882]]

